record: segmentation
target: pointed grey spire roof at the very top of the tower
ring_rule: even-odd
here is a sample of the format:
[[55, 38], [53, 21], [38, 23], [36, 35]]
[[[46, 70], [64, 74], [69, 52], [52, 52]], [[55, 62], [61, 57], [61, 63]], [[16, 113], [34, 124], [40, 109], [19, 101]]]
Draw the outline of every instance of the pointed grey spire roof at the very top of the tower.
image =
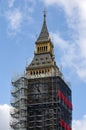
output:
[[47, 24], [46, 24], [46, 11], [44, 10], [44, 21], [43, 21], [42, 29], [39, 34], [39, 37], [37, 38], [36, 43], [45, 42], [49, 40], [50, 40], [50, 37], [49, 37], [49, 32], [48, 32]]

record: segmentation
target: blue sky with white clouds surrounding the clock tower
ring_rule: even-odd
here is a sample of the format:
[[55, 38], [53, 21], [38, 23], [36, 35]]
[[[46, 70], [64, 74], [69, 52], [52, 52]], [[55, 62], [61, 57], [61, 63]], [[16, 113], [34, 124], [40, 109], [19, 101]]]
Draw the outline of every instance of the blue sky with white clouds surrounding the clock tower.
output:
[[46, 7], [55, 60], [71, 83], [73, 130], [85, 130], [85, 5], [86, 0], [0, 0], [0, 112], [10, 105], [12, 78], [24, 73], [33, 58]]

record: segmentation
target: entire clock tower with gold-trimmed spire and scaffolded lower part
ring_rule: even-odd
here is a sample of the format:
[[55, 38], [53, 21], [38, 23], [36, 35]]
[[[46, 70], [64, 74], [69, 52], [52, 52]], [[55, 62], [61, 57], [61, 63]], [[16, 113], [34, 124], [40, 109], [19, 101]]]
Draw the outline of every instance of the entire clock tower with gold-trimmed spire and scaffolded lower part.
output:
[[56, 65], [46, 12], [26, 73], [12, 81], [11, 128], [14, 130], [72, 130], [71, 88]]

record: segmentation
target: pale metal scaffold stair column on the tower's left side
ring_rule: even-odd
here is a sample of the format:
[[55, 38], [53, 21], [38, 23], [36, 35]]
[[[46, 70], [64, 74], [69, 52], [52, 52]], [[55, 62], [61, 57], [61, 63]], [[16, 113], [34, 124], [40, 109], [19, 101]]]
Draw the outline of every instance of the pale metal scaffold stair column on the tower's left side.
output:
[[12, 101], [11, 111], [12, 121], [10, 126], [14, 130], [27, 130], [27, 88], [28, 80], [26, 77], [12, 81]]

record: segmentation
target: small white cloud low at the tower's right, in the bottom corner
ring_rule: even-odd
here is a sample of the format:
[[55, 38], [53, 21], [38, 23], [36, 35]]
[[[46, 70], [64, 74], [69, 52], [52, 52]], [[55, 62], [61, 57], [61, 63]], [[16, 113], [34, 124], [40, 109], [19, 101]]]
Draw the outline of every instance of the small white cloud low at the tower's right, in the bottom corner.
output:
[[86, 115], [80, 120], [73, 121], [73, 130], [86, 130]]

